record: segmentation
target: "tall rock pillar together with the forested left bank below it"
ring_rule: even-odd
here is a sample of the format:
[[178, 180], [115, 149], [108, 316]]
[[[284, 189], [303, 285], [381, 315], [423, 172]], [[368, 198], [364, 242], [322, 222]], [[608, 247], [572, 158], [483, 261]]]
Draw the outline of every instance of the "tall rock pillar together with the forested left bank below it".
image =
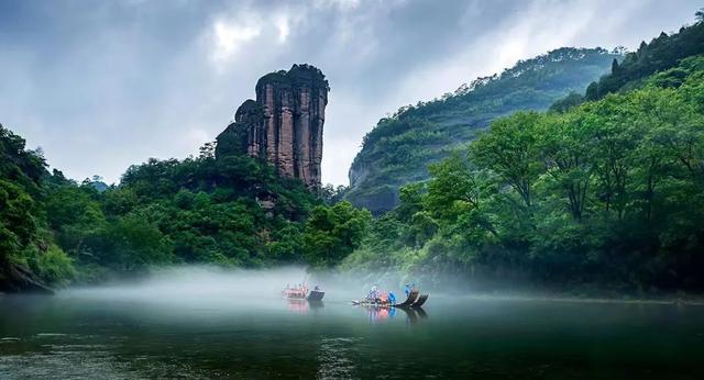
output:
[[371, 214], [318, 189], [328, 89], [309, 65], [266, 75], [258, 103], [245, 101], [198, 157], [150, 159], [112, 187], [50, 174], [0, 127], [0, 291], [32, 273], [63, 284], [174, 264], [339, 264]]

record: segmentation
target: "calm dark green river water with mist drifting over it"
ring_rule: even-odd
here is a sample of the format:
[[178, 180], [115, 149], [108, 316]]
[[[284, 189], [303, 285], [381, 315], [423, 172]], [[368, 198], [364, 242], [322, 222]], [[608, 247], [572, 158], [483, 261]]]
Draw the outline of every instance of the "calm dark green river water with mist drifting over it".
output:
[[274, 282], [0, 297], [0, 379], [704, 378], [702, 306], [431, 294], [386, 312]]

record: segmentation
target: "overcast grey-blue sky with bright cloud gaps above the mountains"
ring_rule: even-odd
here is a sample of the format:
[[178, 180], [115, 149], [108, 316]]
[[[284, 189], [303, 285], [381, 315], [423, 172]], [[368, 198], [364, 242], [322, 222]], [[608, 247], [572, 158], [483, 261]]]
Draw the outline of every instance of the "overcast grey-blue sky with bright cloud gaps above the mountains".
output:
[[264, 74], [330, 81], [323, 182], [407, 103], [561, 46], [635, 48], [703, 1], [0, 0], [0, 123], [68, 177], [118, 181], [213, 141]]

